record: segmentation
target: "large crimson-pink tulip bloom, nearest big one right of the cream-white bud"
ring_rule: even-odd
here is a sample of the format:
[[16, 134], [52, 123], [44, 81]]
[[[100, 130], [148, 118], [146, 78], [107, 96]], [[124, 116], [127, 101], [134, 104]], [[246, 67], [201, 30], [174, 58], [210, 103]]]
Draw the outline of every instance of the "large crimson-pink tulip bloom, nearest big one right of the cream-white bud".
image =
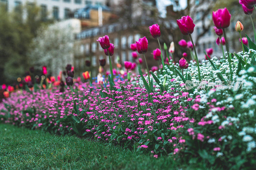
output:
[[191, 34], [194, 31], [195, 24], [190, 16], [183, 16], [181, 19], [177, 19], [177, 24], [184, 35]]

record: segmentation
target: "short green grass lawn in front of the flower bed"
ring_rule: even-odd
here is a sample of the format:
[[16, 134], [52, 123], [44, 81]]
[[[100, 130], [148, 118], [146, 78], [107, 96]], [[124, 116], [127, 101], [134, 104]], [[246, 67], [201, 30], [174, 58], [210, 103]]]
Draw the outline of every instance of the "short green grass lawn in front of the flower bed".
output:
[[0, 124], [0, 169], [195, 169], [187, 164], [76, 136]]

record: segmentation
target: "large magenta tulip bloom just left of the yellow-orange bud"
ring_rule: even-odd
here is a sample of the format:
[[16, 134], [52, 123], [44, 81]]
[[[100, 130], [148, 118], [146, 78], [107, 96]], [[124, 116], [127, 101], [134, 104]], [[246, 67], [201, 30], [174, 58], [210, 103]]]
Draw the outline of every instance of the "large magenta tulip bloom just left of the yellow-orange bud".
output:
[[227, 8], [212, 11], [212, 20], [218, 29], [227, 28], [230, 24], [230, 13]]

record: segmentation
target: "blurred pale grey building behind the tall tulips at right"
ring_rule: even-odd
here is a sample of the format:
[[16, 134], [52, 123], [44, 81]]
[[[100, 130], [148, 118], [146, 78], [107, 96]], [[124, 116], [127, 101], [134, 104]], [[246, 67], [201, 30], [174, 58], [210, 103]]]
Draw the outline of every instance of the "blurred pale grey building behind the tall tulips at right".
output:
[[[221, 46], [216, 44], [218, 36], [213, 29], [212, 21], [212, 6], [215, 4], [215, 0], [190, 0], [189, 14], [194, 21], [195, 29], [191, 34], [194, 42], [196, 43], [196, 52], [198, 59], [205, 59], [204, 51], [206, 48], [213, 48], [212, 56], [222, 56]], [[226, 28], [228, 33], [229, 51], [233, 52], [240, 45], [237, 43], [239, 34], [234, 29], [236, 22], [231, 21], [230, 26]], [[234, 34], [236, 33], [236, 34]], [[232, 40], [232, 41], [231, 41]], [[226, 52], [226, 47], [224, 46]]]

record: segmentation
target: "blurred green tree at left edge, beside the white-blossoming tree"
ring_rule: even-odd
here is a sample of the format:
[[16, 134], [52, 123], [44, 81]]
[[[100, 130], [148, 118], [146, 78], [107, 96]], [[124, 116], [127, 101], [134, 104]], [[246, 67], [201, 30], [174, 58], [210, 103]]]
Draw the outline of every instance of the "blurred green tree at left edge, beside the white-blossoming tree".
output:
[[[28, 70], [28, 50], [42, 21], [40, 8], [26, 4], [7, 12], [0, 9], [0, 84], [16, 82]], [[26, 11], [26, 12], [24, 12]], [[24, 13], [23, 13], [24, 12]]]

